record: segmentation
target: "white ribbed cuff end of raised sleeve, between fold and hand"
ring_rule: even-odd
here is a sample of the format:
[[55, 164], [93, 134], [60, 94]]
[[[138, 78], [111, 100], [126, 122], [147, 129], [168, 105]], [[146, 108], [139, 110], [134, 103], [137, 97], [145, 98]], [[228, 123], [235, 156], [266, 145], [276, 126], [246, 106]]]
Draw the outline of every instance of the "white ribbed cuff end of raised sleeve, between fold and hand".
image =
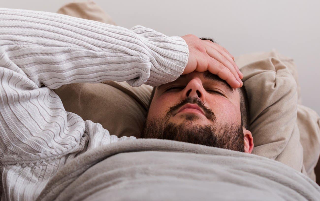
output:
[[183, 73], [189, 57], [188, 45], [184, 39], [179, 36], [165, 36], [142, 26], [135, 26], [131, 30], [141, 36], [140, 40], [148, 49], [150, 76], [144, 84], [166, 84], [173, 82]]

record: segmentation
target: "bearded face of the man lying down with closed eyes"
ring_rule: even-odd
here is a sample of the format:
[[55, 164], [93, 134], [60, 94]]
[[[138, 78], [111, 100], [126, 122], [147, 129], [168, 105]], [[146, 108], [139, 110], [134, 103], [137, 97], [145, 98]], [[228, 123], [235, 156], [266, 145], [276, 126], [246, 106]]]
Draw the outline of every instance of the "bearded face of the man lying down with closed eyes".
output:
[[209, 71], [163, 84], [155, 91], [142, 138], [244, 151], [239, 91]]

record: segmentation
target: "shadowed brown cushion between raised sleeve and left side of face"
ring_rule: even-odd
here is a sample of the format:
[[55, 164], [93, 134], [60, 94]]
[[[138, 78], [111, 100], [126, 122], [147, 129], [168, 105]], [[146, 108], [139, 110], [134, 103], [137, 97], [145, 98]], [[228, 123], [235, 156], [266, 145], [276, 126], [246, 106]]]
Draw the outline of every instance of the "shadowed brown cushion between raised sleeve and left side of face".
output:
[[152, 87], [108, 81], [63, 85], [54, 91], [68, 112], [100, 123], [111, 135], [140, 137]]

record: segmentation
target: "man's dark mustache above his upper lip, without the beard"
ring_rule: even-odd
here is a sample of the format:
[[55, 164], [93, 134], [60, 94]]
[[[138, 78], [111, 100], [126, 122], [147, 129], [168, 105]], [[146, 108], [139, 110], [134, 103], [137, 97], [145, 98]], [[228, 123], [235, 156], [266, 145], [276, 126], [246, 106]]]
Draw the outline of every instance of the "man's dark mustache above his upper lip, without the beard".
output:
[[177, 112], [177, 110], [180, 107], [182, 107], [187, 103], [197, 104], [201, 109], [203, 109], [204, 116], [207, 117], [207, 119], [211, 120], [212, 122], [215, 122], [216, 116], [214, 115], [214, 112], [212, 111], [212, 109], [206, 107], [204, 105], [204, 102], [196, 97], [193, 97], [193, 98], [187, 97], [186, 99], [181, 100], [179, 103], [175, 104], [174, 106], [169, 107], [169, 109], [167, 110], [166, 118], [169, 119], [171, 116], [173, 116]]

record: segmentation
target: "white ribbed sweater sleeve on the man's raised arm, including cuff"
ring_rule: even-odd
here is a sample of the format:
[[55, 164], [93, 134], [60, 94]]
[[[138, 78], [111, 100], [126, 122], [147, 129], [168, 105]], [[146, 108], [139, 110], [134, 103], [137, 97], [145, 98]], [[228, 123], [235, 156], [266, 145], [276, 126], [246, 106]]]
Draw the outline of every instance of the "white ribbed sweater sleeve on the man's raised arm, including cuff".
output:
[[[75, 82], [172, 82], [188, 61], [188, 46], [142, 26], [126, 28], [67, 15], [0, 9], [0, 66], [59, 88]], [[10, 66], [10, 67], [9, 67]]]

